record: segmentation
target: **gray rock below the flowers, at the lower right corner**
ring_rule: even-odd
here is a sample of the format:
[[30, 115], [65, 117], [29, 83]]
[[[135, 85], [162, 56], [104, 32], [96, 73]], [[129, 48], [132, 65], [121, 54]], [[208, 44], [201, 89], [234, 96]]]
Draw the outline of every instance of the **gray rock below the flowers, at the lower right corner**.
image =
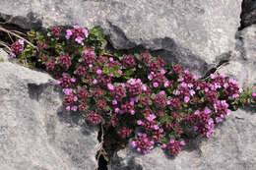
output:
[[175, 158], [160, 147], [147, 155], [127, 147], [117, 152], [108, 170], [255, 170], [255, 128], [256, 112], [237, 110], [210, 139], [190, 142]]

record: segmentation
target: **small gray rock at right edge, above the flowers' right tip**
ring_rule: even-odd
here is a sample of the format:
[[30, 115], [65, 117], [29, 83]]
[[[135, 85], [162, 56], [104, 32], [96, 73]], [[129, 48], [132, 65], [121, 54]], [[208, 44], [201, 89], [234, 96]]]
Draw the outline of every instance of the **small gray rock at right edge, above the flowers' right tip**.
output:
[[239, 85], [256, 86], [256, 25], [243, 28], [237, 36], [236, 56], [219, 72], [236, 79]]

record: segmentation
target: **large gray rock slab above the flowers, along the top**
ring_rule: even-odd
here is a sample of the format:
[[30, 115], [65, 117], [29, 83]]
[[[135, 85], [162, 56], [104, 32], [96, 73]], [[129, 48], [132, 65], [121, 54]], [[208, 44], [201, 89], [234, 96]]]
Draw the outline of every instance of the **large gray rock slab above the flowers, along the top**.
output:
[[138, 46], [203, 74], [232, 51], [242, 0], [1, 0], [0, 16], [23, 28], [101, 25], [118, 49]]

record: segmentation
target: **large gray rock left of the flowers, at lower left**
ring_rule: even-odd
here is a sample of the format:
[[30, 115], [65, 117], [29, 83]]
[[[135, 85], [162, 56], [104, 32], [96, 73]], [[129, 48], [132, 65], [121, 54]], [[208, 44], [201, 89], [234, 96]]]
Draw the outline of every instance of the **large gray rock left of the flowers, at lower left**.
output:
[[47, 74], [0, 63], [0, 169], [94, 170], [97, 129], [62, 108]]

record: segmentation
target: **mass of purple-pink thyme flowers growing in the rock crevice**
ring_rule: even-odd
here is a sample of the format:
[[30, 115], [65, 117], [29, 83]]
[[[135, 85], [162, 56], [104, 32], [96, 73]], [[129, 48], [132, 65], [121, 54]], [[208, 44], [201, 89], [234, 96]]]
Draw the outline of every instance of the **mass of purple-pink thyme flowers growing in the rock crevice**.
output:
[[[247, 102], [244, 96], [256, 103], [255, 92], [245, 93], [224, 74], [201, 81], [187, 69], [167, 66], [149, 53], [105, 54], [102, 43], [92, 40], [100, 39], [95, 38], [99, 33], [89, 34], [96, 30], [75, 26], [65, 30], [66, 38], [61, 38], [59, 27], [49, 31], [62, 46], [47, 40], [40, 45], [40, 37], [37, 44], [48, 52], [42, 64], [63, 87], [66, 110], [82, 112], [88, 122], [101, 124], [110, 132], [106, 134], [118, 137], [107, 137], [110, 141], [104, 139], [104, 143], [133, 138], [131, 145], [138, 152], [146, 154], [161, 145], [168, 154], [177, 155], [185, 144], [184, 125], [209, 138], [230, 110], [240, 101]], [[20, 55], [23, 49], [24, 42], [19, 40], [12, 45], [11, 55]]]

